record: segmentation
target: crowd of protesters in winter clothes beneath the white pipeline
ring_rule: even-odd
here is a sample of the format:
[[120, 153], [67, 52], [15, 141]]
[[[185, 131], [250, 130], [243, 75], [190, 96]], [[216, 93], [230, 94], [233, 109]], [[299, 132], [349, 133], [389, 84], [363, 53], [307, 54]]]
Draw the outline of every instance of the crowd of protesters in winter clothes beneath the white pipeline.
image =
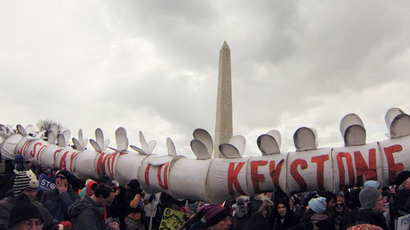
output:
[[[6, 161], [4, 168], [0, 230], [395, 230], [398, 218], [410, 214], [410, 171], [400, 172], [385, 187], [367, 180], [362, 187], [337, 194], [279, 190], [208, 204], [147, 194], [137, 179], [124, 187], [108, 176], [81, 181], [67, 170], [44, 167], [20, 155]], [[43, 177], [53, 181], [48, 190], [39, 187]], [[171, 212], [174, 215], [166, 216]], [[171, 223], [178, 215], [183, 220]]]

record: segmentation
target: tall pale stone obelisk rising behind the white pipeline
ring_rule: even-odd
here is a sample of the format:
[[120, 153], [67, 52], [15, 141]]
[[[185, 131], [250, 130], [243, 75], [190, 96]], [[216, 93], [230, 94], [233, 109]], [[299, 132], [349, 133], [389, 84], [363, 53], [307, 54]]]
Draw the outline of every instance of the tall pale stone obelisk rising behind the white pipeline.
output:
[[222, 158], [219, 145], [232, 138], [231, 49], [226, 41], [219, 52], [214, 158]]

